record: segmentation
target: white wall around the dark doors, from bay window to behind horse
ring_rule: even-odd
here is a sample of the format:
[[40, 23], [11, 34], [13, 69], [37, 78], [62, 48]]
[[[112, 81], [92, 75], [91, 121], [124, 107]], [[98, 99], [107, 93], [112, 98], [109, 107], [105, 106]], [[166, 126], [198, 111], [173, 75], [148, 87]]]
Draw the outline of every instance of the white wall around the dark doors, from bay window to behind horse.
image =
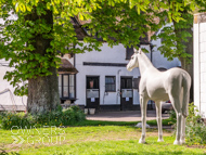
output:
[[[157, 47], [160, 44], [157, 40]], [[149, 51], [150, 46], [141, 46]], [[117, 98], [116, 92], [108, 92], [105, 95], [105, 76], [116, 76], [116, 90], [120, 87], [120, 76], [132, 76], [138, 78], [140, 76], [139, 68], [134, 68], [132, 72], [128, 72], [126, 67], [111, 67], [111, 66], [83, 66], [83, 62], [98, 62], [98, 63], [128, 63], [126, 61], [126, 49], [123, 44], [110, 48], [107, 43], [103, 43], [102, 51], [86, 52], [82, 54], [76, 54], [76, 68], [79, 72], [77, 74], [77, 101], [76, 104], [86, 105], [86, 76], [93, 75], [100, 76], [100, 105], [120, 104], [120, 98]], [[146, 53], [151, 59], [151, 53]], [[153, 52], [153, 62], [155, 67], [171, 68], [180, 65], [180, 62], [176, 59], [172, 62], [168, 62], [158, 51]], [[119, 75], [118, 75], [118, 70]], [[138, 90], [133, 90], [133, 104], [139, 104]]]

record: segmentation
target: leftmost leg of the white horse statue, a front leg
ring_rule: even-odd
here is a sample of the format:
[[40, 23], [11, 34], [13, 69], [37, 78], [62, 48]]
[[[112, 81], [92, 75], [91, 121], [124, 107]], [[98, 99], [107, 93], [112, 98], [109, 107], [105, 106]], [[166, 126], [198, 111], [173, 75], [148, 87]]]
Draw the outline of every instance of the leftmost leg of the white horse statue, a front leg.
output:
[[142, 114], [142, 135], [139, 140], [139, 143], [145, 143], [145, 135], [146, 135], [146, 105], [147, 101], [142, 95], [140, 95], [140, 106], [141, 106], [141, 114]]

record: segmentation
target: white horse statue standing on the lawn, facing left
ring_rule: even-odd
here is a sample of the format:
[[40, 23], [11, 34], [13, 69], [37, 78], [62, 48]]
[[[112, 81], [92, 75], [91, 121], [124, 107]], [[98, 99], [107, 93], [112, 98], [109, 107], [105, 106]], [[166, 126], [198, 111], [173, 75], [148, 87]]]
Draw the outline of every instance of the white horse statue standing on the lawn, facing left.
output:
[[155, 101], [158, 125], [158, 142], [163, 140], [162, 105], [160, 102], [170, 100], [177, 114], [177, 135], [173, 144], [185, 143], [185, 117], [190, 98], [191, 77], [181, 68], [171, 68], [166, 72], [156, 69], [147, 56], [139, 49], [134, 49], [127, 65], [128, 70], [139, 67], [141, 80], [139, 86], [140, 105], [142, 114], [142, 135], [139, 143], [145, 143], [146, 104]]

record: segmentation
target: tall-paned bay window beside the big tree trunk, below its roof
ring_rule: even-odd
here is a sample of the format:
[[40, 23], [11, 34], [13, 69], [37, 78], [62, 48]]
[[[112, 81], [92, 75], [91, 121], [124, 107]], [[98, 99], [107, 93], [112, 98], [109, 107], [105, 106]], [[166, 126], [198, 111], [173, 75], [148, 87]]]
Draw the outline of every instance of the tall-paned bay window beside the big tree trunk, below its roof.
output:
[[59, 75], [61, 99], [75, 99], [75, 75]]

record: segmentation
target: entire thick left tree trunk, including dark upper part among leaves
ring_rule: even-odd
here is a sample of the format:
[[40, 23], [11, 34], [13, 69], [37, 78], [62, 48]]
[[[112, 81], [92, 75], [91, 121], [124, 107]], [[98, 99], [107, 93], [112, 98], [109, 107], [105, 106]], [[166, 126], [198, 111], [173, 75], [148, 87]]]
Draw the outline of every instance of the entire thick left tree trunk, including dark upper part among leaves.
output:
[[[43, 3], [43, 2], [42, 2]], [[34, 23], [39, 24], [43, 21], [42, 24], [51, 27], [50, 31], [46, 33], [35, 33], [34, 37], [30, 38], [29, 42], [34, 46], [35, 50], [28, 51], [30, 54], [39, 54], [42, 57], [47, 56], [47, 49], [51, 48], [52, 38], [47, 38], [46, 35], [52, 36], [53, 31], [53, 14], [52, 11], [47, 10], [46, 3], [44, 11], [46, 14], [41, 14], [40, 16], [37, 14], [37, 8], [30, 14], [25, 16], [25, 21], [33, 21]], [[30, 27], [34, 28], [34, 27]], [[51, 53], [54, 54], [54, 53]], [[48, 63], [53, 63], [53, 57], [55, 55], [51, 55], [51, 60]], [[38, 62], [39, 60], [33, 60]], [[37, 67], [41, 66], [41, 63], [38, 62]], [[60, 95], [59, 95], [59, 86], [57, 86], [57, 74], [56, 68], [54, 66], [50, 66], [49, 72], [52, 73], [50, 76], [40, 76], [37, 74], [36, 78], [28, 79], [28, 99], [27, 99], [27, 112], [31, 114], [39, 114], [50, 112], [56, 108], [60, 104]], [[33, 72], [33, 70], [31, 70]], [[41, 73], [40, 73], [41, 74]]]

